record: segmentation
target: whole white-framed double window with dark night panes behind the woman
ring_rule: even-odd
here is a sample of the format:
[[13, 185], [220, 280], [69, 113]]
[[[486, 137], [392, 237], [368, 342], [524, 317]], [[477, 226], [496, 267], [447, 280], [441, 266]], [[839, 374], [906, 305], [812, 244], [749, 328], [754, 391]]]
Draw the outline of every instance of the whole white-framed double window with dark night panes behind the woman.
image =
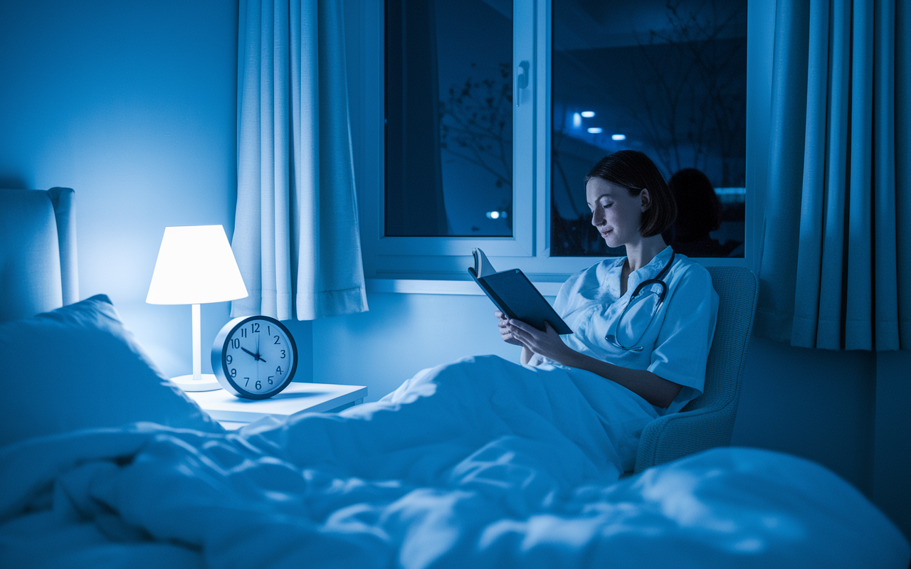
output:
[[622, 254], [594, 239], [582, 183], [620, 147], [668, 178], [700, 169], [721, 208], [711, 239], [735, 246], [723, 255], [752, 254], [771, 0], [750, 0], [749, 20], [746, 0], [346, 6], [368, 278], [466, 279], [480, 247], [496, 266], [558, 281]]

